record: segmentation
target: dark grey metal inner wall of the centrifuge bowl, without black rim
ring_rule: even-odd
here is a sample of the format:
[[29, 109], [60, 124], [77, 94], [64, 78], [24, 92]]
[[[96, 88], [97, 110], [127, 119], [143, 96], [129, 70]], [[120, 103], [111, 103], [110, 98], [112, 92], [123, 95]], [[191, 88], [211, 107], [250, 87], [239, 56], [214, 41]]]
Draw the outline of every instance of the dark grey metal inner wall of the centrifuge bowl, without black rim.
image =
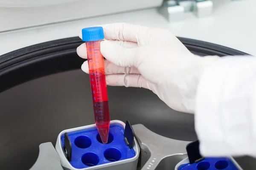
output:
[[[47, 65], [45, 65], [47, 67]], [[22, 74], [22, 73], [17, 73]], [[146, 89], [108, 87], [111, 119], [130, 120], [172, 139], [197, 139], [192, 114], [170, 109]], [[55, 144], [64, 129], [94, 123], [87, 74], [80, 69], [35, 79], [0, 93], [0, 167], [27, 170], [38, 158], [38, 146]], [[244, 170], [255, 159], [238, 160]]]

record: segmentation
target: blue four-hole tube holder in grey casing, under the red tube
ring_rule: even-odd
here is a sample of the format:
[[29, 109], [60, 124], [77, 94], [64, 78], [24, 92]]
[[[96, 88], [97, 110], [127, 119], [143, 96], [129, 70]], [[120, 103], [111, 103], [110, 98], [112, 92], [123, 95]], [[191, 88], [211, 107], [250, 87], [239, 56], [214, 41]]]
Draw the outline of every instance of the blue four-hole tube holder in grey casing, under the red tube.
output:
[[[140, 147], [134, 137], [133, 147], [129, 148], [124, 130], [124, 122], [111, 121], [107, 144], [102, 143], [95, 124], [63, 130], [55, 146], [61, 166], [69, 170], [136, 170]], [[65, 133], [72, 146], [71, 161], [65, 156]]]

